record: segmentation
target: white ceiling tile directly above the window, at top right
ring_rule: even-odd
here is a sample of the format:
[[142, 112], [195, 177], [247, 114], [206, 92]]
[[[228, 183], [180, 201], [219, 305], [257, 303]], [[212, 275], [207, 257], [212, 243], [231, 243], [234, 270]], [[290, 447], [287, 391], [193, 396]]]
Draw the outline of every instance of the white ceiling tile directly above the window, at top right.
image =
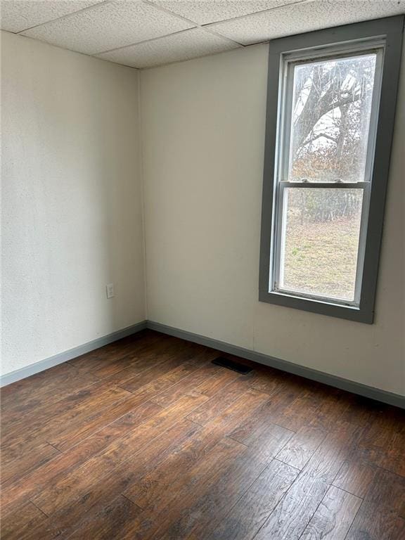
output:
[[321, 28], [404, 13], [405, 0], [307, 0], [263, 13], [210, 25], [241, 44], [249, 45]]

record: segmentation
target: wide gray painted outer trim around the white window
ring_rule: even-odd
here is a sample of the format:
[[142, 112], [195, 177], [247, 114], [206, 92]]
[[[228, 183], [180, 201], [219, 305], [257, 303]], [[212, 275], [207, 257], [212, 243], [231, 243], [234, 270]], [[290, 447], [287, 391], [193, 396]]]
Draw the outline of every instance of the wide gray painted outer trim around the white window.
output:
[[[372, 324], [374, 320], [375, 293], [378, 278], [381, 238], [387, 180], [390, 168], [395, 105], [401, 63], [401, 44], [404, 16], [366, 21], [352, 25], [329, 28], [275, 39], [269, 44], [269, 74], [267, 84], [266, 139], [264, 150], [264, 178], [262, 195], [262, 234], [260, 239], [259, 301], [294, 309], [340, 317]], [[364, 274], [361, 284], [359, 307], [350, 307], [302, 298], [278, 292], [269, 292], [271, 264], [271, 235], [274, 229], [274, 174], [276, 169], [276, 129], [278, 119], [278, 83], [281, 55], [303, 49], [322, 48], [345, 41], [385, 38], [383, 80], [380, 91], [377, 134], [368, 209]]]

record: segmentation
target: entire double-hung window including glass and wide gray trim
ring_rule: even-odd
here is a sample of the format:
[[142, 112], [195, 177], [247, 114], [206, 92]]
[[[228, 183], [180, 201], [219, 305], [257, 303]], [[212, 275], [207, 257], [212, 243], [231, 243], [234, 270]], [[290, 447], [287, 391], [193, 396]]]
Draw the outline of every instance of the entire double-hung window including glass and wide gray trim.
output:
[[259, 300], [373, 322], [403, 27], [270, 43]]

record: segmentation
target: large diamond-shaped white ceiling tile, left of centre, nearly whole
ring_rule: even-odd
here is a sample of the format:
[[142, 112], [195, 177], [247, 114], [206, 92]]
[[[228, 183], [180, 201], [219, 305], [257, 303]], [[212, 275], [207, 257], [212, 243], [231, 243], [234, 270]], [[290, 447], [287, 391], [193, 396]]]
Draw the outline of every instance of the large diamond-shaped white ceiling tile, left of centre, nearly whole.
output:
[[23, 35], [95, 54], [193, 27], [140, 0], [116, 0], [41, 25]]

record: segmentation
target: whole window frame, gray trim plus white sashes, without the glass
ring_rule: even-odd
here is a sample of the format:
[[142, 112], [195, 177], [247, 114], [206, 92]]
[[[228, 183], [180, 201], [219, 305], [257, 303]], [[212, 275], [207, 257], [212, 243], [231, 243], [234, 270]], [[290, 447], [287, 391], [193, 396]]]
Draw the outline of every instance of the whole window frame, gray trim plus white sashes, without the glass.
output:
[[[378, 260], [383, 233], [383, 217], [387, 179], [390, 166], [392, 134], [394, 129], [395, 105], [401, 60], [401, 42], [404, 16], [371, 20], [342, 27], [330, 28], [284, 37], [269, 44], [269, 75], [267, 85], [266, 143], [264, 151], [264, 179], [262, 197], [262, 234], [259, 265], [259, 301], [278, 304], [304, 311], [350, 319], [363, 323], [373, 323], [375, 292], [378, 277]], [[294, 65], [305, 56], [310, 59], [328, 55], [350, 53], [357, 55], [361, 49], [369, 52], [383, 45], [383, 68], [378, 81], [378, 57], [376, 58], [373, 105], [371, 108], [370, 132], [366, 153], [365, 182], [333, 183], [328, 188], [362, 188], [364, 193], [361, 210], [361, 231], [359, 257], [356, 269], [356, 284], [361, 280], [360, 294], [354, 302], [331, 300], [319, 295], [301, 295], [294, 291], [274, 290], [274, 278], [278, 276], [281, 253], [281, 219], [279, 210], [285, 187], [319, 188], [323, 183], [302, 183], [279, 181], [280, 174], [288, 167], [289, 151], [281, 152], [285, 146], [286, 132], [289, 141], [290, 130], [283, 119], [285, 111], [281, 105], [288, 103], [283, 98], [285, 91], [285, 60]], [[355, 52], [353, 51], [355, 49]], [[293, 79], [293, 77], [290, 77]], [[380, 94], [378, 108], [376, 95]], [[291, 115], [290, 115], [291, 117]], [[373, 118], [374, 117], [374, 118]], [[374, 127], [373, 127], [374, 122]], [[284, 128], [284, 129], [283, 129]], [[286, 129], [285, 129], [286, 128]], [[373, 129], [373, 132], [371, 131]], [[281, 133], [280, 133], [281, 131]], [[369, 181], [367, 181], [367, 179]], [[283, 179], [285, 180], [285, 179]], [[314, 186], [316, 184], [316, 186]], [[367, 184], [367, 185], [364, 185]], [[360, 245], [361, 241], [361, 245]], [[360, 249], [362, 248], [362, 249]], [[277, 267], [278, 266], [278, 267]]]

